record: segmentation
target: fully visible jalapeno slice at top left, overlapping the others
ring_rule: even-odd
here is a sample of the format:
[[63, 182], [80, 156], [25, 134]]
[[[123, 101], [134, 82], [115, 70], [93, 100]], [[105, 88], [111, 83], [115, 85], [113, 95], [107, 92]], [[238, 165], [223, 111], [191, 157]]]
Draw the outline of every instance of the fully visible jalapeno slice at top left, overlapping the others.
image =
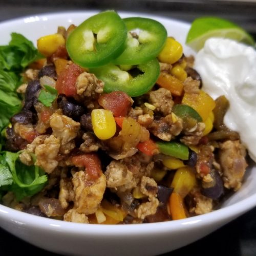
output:
[[84, 68], [109, 63], [125, 48], [127, 29], [115, 11], [96, 14], [75, 28], [67, 39], [71, 59]]

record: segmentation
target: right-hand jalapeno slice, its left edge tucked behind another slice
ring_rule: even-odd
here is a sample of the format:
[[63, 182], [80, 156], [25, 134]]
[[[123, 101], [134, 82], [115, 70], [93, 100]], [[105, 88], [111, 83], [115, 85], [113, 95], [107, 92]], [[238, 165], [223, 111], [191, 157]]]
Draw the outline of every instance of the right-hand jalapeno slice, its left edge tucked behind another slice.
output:
[[[167, 31], [154, 19], [131, 17], [123, 19], [128, 37], [124, 52], [114, 60], [117, 65], [138, 65], [158, 56], [162, 50]], [[137, 33], [139, 31], [139, 33]], [[132, 32], [136, 35], [133, 36]]]

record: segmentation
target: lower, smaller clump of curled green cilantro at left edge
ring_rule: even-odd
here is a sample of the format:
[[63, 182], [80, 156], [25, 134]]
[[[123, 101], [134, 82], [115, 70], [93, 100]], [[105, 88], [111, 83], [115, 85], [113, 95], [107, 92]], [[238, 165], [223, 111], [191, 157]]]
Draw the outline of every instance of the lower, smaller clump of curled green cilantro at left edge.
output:
[[17, 200], [22, 200], [26, 196], [33, 196], [39, 192], [45, 186], [48, 178], [38, 166], [27, 166], [20, 162], [19, 154], [4, 152], [1, 155], [0, 187], [13, 191]]

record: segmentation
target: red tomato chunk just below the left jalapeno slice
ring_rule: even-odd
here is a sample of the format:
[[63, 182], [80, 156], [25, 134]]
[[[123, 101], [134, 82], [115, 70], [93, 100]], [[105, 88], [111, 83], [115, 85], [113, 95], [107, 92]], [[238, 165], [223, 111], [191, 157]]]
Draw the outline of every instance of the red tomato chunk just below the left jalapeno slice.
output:
[[59, 94], [74, 96], [76, 94], [76, 79], [82, 73], [82, 69], [72, 63], [60, 74], [56, 82], [56, 89]]

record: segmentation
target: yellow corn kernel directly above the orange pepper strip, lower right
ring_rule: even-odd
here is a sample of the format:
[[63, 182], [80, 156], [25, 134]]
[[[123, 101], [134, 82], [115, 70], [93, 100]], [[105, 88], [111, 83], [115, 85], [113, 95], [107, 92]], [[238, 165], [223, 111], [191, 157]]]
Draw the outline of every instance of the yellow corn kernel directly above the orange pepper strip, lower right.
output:
[[175, 193], [184, 198], [195, 185], [196, 175], [193, 168], [185, 166], [176, 171], [171, 186], [174, 188]]

